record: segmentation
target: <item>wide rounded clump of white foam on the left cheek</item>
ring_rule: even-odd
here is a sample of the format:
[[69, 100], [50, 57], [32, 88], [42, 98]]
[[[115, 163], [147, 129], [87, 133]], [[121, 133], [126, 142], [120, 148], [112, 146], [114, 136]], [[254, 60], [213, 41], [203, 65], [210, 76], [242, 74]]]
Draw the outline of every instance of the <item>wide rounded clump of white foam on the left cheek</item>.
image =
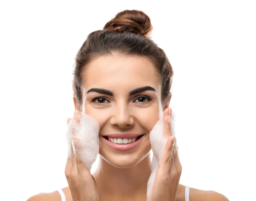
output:
[[[74, 153], [79, 154], [87, 170], [90, 170], [99, 153], [99, 124], [86, 113], [81, 113], [78, 118], [79, 123], [71, 119], [67, 128], [68, 154], [71, 158], [73, 147]], [[73, 136], [79, 140], [73, 140]]]

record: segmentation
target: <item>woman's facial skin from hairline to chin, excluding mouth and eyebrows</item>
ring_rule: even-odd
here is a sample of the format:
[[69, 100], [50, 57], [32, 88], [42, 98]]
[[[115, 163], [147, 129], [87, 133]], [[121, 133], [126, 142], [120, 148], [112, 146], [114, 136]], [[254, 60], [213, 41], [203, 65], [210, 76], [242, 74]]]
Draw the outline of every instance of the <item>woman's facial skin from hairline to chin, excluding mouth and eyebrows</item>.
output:
[[[83, 80], [81, 110], [99, 123], [99, 155], [116, 167], [132, 167], [140, 163], [151, 150], [149, 133], [163, 111], [161, 85], [154, 65], [139, 56], [98, 57], [86, 66]], [[155, 91], [129, 95], [145, 86]], [[113, 96], [94, 91], [87, 93], [92, 88], [111, 91]], [[119, 151], [106, 144], [102, 137], [113, 133], [145, 136], [133, 150]]]

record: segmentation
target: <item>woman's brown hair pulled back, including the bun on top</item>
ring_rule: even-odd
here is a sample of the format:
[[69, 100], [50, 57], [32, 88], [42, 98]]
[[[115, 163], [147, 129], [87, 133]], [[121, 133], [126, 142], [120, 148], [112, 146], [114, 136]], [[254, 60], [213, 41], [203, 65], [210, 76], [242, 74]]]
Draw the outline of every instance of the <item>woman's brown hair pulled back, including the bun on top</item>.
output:
[[[105, 24], [103, 30], [93, 31], [84, 41], [76, 55], [73, 79], [74, 97], [81, 103], [81, 85], [84, 81], [85, 66], [100, 56], [137, 55], [149, 59], [157, 70], [162, 83], [162, 104], [172, 86], [172, 66], [164, 51], [150, 37], [152, 25], [143, 11], [125, 10]], [[170, 93], [170, 97], [172, 94]]]

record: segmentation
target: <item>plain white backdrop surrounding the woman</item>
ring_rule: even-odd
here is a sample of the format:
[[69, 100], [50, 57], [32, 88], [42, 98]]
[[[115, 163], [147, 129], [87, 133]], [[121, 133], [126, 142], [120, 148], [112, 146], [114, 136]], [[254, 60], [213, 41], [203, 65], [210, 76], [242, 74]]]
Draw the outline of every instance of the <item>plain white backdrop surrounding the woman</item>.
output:
[[180, 184], [230, 201], [256, 199], [253, 1], [92, 2], [0, 3], [0, 199], [25, 201], [68, 186], [74, 58], [90, 32], [125, 9], [150, 17], [152, 40], [174, 70]]

